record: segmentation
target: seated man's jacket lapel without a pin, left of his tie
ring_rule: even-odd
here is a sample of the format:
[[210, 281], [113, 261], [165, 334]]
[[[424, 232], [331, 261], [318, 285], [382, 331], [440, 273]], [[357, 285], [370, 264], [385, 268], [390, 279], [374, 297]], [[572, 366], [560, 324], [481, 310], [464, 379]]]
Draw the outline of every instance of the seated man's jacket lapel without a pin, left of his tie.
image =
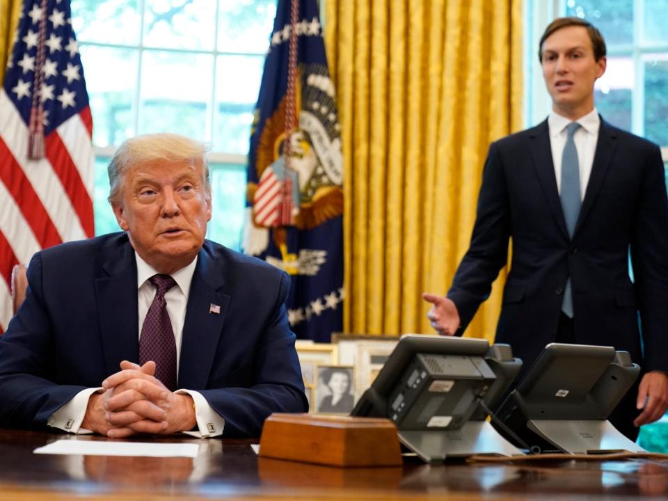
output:
[[137, 267], [125, 236], [110, 240], [103, 253], [108, 276], [95, 280], [95, 295], [106, 372], [113, 374], [121, 360], [139, 361]]

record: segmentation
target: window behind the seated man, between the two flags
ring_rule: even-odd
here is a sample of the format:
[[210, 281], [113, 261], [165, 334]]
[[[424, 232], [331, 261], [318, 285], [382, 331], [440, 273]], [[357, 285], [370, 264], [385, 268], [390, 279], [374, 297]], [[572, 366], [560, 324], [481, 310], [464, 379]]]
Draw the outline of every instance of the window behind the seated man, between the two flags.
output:
[[106, 164], [136, 134], [206, 141], [207, 237], [239, 248], [246, 154], [276, 0], [72, 0], [95, 145], [95, 232], [118, 231]]

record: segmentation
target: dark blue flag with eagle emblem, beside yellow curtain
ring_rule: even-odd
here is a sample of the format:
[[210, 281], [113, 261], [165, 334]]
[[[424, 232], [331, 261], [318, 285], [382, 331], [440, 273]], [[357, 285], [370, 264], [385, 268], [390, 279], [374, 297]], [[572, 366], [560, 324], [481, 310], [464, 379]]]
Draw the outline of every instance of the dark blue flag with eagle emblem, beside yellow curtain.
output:
[[297, 337], [341, 331], [340, 125], [315, 0], [279, 0], [250, 138], [244, 251], [292, 278]]

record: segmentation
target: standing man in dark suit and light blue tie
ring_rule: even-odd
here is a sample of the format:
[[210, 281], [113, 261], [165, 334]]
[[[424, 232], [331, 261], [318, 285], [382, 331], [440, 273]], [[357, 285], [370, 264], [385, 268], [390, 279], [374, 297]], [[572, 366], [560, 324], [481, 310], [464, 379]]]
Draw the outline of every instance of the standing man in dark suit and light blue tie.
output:
[[[447, 296], [424, 294], [443, 335], [463, 331], [512, 262], [496, 342], [524, 369], [549, 342], [613, 346], [643, 369], [610, 416], [635, 439], [668, 404], [668, 202], [660, 149], [594, 108], [605, 42], [589, 22], [555, 19], [539, 59], [552, 113], [492, 143], [471, 244]], [[629, 278], [629, 253], [633, 263]], [[639, 317], [638, 317], [639, 313]]]

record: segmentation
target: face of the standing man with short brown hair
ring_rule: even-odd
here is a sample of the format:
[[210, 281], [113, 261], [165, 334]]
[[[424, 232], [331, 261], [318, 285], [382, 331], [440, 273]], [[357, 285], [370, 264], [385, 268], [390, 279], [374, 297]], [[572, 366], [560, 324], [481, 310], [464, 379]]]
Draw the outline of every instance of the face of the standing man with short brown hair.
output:
[[543, 77], [552, 110], [577, 120], [594, 109], [594, 81], [605, 72], [605, 57], [594, 59], [584, 26], [566, 26], [543, 42]]

